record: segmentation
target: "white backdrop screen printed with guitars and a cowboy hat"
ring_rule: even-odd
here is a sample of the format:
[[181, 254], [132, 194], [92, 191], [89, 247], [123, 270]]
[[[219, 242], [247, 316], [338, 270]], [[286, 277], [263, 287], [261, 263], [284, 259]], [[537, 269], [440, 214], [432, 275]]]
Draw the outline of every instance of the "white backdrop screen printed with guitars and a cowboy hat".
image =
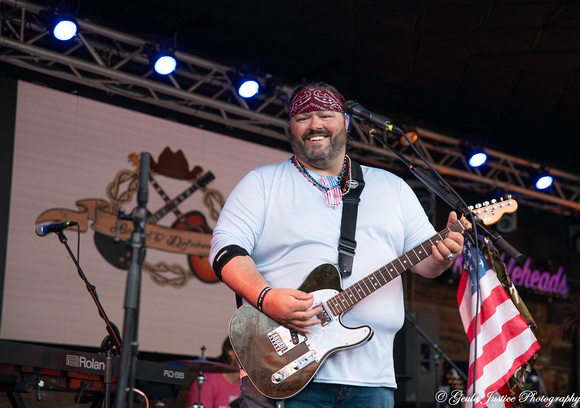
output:
[[[127, 270], [113, 266], [99, 252], [93, 241], [97, 214], [83, 212], [76, 203], [111, 203], [111, 197], [129, 191], [128, 182], [119, 183], [117, 190], [109, 188], [119, 174], [138, 174], [129, 154], [149, 152], [157, 161], [166, 148], [173, 153], [181, 150], [189, 170], [200, 166], [211, 171], [215, 179], [207, 187], [214, 197], [223, 198], [252, 168], [289, 157], [279, 150], [19, 83], [1, 338], [99, 346], [106, 336], [104, 322], [64, 245], [56, 234], [40, 238], [34, 232], [37, 223], [71, 220], [80, 221], [82, 227], [82, 269], [122, 331]], [[171, 198], [191, 186], [187, 180], [152, 175]], [[199, 211], [213, 228], [215, 213], [204, 201], [206, 196], [196, 191], [178, 208], [182, 213]], [[129, 197], [131, 201], [123, 205], [127, 212], [137, 205], [136, 195]], [[215, 208], [216, 200], [212, 203]], [[154, 212], [164, 205], [150, 184], [147, 208]], [[169, 212], [157, 227], [171, 232], [176, 219]], [[76, 231], [65, 231], [75, 254]], [[202, 237], [208, 240], [210, 234]], [[205, 346], [206, 356], [219, 355], [235, 311], [233, 293], [222, 283], [197, 279], [184, 253], [149, 248], [146, 261], [187, 274], [173, 279], [171, 271], [157, 275], [143, 271], [139, 349], [199, 355]]]

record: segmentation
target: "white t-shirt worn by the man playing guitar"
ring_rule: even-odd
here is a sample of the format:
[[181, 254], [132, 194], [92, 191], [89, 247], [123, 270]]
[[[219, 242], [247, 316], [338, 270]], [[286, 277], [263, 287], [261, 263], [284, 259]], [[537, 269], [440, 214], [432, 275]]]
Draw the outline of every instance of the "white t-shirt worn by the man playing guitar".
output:
[[[435, 234], [417, 197], [400, 177], [362, 166], [365, 187], [357, 215], [353, 272], [347, 288]], [[310, 172], [314, 179], [319, 175]], [[227, 245], [245, 248], [274, 288], [298, 288], [323, 263], [338, 263], [342, 205], [324, 193], [291, 160], [259, 167], [232, 191], [211, 241], [210, 262]], [[396, 387], [393, 340], [404, 322], [401, 278], [366, 297], [342, 316], [349, 327], [370, 325], [373, 338], [341, 350], [313, 381]]]

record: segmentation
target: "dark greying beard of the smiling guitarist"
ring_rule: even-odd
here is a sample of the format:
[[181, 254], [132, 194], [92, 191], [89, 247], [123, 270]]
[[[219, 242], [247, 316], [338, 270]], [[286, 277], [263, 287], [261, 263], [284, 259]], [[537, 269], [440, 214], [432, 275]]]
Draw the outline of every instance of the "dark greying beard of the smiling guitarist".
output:
[[[314, 135], [328, 136], [330, 138], [330, 145], [328, 148], [309, 148], [306, 145], [305, 140]], [[334, 136], [326, 130], [317, 130], [308, 132], [302, 135], [301, 138], [291, 137], [290, 144], [292, 146], [292, 150], [299, 159], [314, 167], [323, 169], [329, 166], [334, 159], [342, 154], [343, 149], [346, 146], [346, 139], [346, 131], [344, 128], [339, 130]]]

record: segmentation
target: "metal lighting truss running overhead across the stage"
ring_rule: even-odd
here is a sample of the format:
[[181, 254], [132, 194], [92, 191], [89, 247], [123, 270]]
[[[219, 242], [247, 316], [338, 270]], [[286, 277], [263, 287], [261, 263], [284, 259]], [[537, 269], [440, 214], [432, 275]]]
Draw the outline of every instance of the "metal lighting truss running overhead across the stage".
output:
[[[143, 39], [78, 20], [79, 34], [63, 45], [46, 30], [46, 11], [27, 1], [0, 0], [0, 61], [252, 134], [288, 139], [284, 101], [290, 88], [282, 81], [260, 78], [267, 93], [249, 102], [235, 90], [238, 72], [234, 67], [179, 50], [175, 51], [178, 69], [159, 76], [150, 67], [148, 52], [163, 39]], [[352, 129], [353, 158], [393, 171], [404, 170], [395, 154], [369, 136], [369, 128], [355, 123]], [[539, 163], [485, 149], [488, 163], [483, 169], [473, 169], [466, 162], [464, 144], [459, 139], [424, 128], [406, 130], [419, 135], [414, 147], [454, 187], [483, 194], [511, 194], [520, 204], [566, 216], [576, 216], [580, 211], [577, 175], [549, 169], [554, 185], [547, 192], [539, 192], [530, 187], [531, 175], [540, 169]], [[398, 136], [379, 133], [409, 162], [422, 166], [416, 152]]]

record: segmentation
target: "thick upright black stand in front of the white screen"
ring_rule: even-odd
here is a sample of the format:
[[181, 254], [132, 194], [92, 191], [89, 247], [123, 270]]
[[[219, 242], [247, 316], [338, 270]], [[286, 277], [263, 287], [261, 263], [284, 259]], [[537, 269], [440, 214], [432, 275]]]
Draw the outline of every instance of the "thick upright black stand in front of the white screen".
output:
[[115, 408], [121, 408], [127, 403], [127, 407], [133, 405], [133, 386], [135, 370], [137, 366], [137, 327], [139, 320], [139, 298], [141, 288], [141, 267], [145, 256], [145, 225], [147, 224], [147, 200], [149, 197], [149, 163], [151, 155], [141, 153], [141, 166], [139, 169], [139, 190], [137, 193], [137, 207], [128, 215], [119, 214], [121, 219], [133, 221], [133, 233], [131, 235], [131, 265], [127, 274], [125, 289], [125, 321], [123, 326], [123, 338], [125, 346], [121, 349], [121, 362], [117, 382], [117, 394]]

